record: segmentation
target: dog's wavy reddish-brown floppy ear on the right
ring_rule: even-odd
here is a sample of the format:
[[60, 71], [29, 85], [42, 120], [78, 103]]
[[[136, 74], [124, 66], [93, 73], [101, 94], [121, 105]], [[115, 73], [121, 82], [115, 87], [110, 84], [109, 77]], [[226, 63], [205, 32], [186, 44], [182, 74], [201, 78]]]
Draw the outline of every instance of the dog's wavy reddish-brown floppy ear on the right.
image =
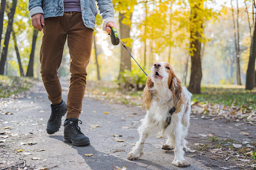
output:
[[184, 104], [185, 99], [184, 96], [182, 95], [182, 85], [180, 79], [176, 77], [174, 74], [171, 83], [169, 84], [169, 89], [173, 92], [173, 98], [174, 98], [174, 106], [177, 109], [177, 112], [181, 111], [181, 105]]

